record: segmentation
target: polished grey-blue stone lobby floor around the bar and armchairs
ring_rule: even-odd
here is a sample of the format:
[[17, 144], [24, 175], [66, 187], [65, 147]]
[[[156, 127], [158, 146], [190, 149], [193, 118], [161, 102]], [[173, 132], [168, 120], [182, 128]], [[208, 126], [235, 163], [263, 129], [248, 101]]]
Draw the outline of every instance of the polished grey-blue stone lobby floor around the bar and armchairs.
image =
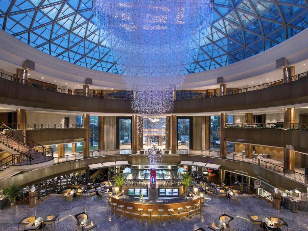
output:
[[[18, 205], [0, 211], [0, 231], [17, 230], [17, 223], [26, 216], [39, 216], [47, 214], [59, 214], [60, 225], [70, 224], [71, 228], [56, 228], [55, 230], [75, 230], [72, 227], [74, 215], [86, 211], [90, 220], [97, 224], [97, 230], [104, 231], [136, 231], [136, 230], [185, 230], [193, 231], [200, 227], [207, 230], [207, 226], [218, 220], [218, 217], [226, 213], [235, 217], [234, 224], [230, 230], [245, 231], [250, 230], [250, 224], [246, 224], [246, 214], [282, 217], [288, 224], [290, 231], [308, 230], [308, 212], [292, 213], [284, 208], [275, 210], [267, 202], [260, 198], [243, 197], [236, 200], [227, 200], [225, 197], [213, 197], [202, 207], [201, 216], [193, 216], [192, 219], [183, 221], [174, 220], [172, 223], [165, 221], [160, 224], [157, 221], [148, 223], [138, 222], [136, 219], [121, 219], [111, 215], [110, 207], [107, 204], [107, 197], [90, 198], [82, 197], [81, 200], [72, 202], [61, 200], [60, 197], [49, 197], [40, 203], [36, 208], [29, 209], [27, 205]], [[6, 229], [13, 228], [15, 229]], [[57, 226], [56, 226], [57, 227]], [[4, 229], [3, 229], [4, 228]], [[20, 229], [22, 230], [22, 229]], [[54, 230], [52, 226], [43, 230]], [[253, 225], [253, 230], [263, 230], [260, 226]], [[283, 228], [282, 230], [286, 230]]]

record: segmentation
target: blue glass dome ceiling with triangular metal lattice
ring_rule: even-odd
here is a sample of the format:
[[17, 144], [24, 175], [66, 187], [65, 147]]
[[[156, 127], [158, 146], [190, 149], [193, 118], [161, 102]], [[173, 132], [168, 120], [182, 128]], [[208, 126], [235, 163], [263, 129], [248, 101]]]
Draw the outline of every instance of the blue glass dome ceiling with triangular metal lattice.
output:
[[[307, 27], [306, 0], [214, 0], [213, 22], [187, 73], [235, 63]], [[0, 25], [21, 41], [77, 65], [122, 74], [93, 24], [92, 0], [0, 0]], [[123, 67], [122, 67], [123, 68]]]

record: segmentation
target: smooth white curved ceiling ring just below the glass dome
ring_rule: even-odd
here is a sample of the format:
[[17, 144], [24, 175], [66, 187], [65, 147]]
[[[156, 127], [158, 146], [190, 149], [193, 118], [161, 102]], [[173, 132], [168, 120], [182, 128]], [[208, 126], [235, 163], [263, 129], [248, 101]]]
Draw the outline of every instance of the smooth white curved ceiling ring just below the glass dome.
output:
[[[35, 71], [31, 71], [31, 78], [54, 82], [60, 86], [67, 86], [72, 89], [78, 88], [77, 84], [83, 84], [86, 78], [93, 79], [93, 86], [107, 89], [126, 89], [121, 75], [102, 71], [95, 71], [86, 67], [81, 67], [67, 61], [53, 57], [43, 51], [39, 51], [30, 45], [23, 43], [12, 35], [0, 30], [1, 43], [0, 68], [5, 71], [15, 73], [16, 68], [20, 68], [22, 63], [29, 59], [35, 63]], [[281, 76], [282, 71], [276, 68], [276, 59], [285, 57], [290, 65], [298, 63], [307, 58], [308, 52], [308, 30], [305, 29], [294, 35], [292, 38], [263, 51], [257, 55], [241, 60], [237, 63], [229, 64], [209, 71], [203, 71], [186, 75], [181, 89], [193, 89], [201, 87], [217, 87], [217, 78], [223, 76], [225, 81], [232, 83], [244, 81], [250, 77], [269, 73], [269, 77], [276, 80], [276, 76]], [[249, 81], [246, 81], [249, 83]], [[67, 83], [67, 84], [66, 84]], [[248, 84], [246, 84], [248, 85]], [[243, 82], [242, 86], [245, 86]]]

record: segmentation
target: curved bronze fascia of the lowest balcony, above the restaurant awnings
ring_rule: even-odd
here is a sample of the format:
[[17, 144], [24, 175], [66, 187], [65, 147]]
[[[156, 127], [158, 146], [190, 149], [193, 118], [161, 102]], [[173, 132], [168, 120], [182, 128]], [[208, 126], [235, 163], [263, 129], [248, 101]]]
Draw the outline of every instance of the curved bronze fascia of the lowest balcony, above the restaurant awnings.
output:
[[[307, 189], [303, 183], [295, 181], [282, 174], [270, 171], [269, 169], [262, 168], [255, 164], [249, 164], [240, 161], [221, 159], [209, 156], [193, 156], [193, 155], [166, 155], [161, 156], [160, 165], [179, 165], [182, 160], [184, 161], [198, 161], [204, 163], [221, 165], [220, 169], [235, 172], [241, 175], [250, 176], [255, 179], [264, 181], [274, 187], [282, 190], [291, 190], [297, 188], [299, 191]], [[50, 179], [59, 175], [64, 175], [71, 172], [77, 172], [89, 168], [89, 164], [105, 163], [111, 161], [127, 160], [131, 165], [148, 165], [143, 155], [115, 155], [115, 156], [102, 156], [88, 159], [75, 160], [61, 164], [54, 164], [52, 166], [37, 169], [34, 171], [25, 172], [9, 179], [3, 180], [0, 187], [7, 187], [12, 184], [20, 186], [32, 185], [39, 181]]]

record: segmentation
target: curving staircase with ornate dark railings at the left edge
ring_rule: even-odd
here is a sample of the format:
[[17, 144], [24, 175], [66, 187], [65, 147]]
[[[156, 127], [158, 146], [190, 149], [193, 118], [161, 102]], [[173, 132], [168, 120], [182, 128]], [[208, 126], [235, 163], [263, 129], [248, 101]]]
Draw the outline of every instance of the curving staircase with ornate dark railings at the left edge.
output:
[[21, 171], [31, 171], [54, 164], [53, 149], [23, 136], [18, 130], [4, 124], [0, 132], [0, 149], [10, 153], [10, 156], [0, 160], [0, 182]]

